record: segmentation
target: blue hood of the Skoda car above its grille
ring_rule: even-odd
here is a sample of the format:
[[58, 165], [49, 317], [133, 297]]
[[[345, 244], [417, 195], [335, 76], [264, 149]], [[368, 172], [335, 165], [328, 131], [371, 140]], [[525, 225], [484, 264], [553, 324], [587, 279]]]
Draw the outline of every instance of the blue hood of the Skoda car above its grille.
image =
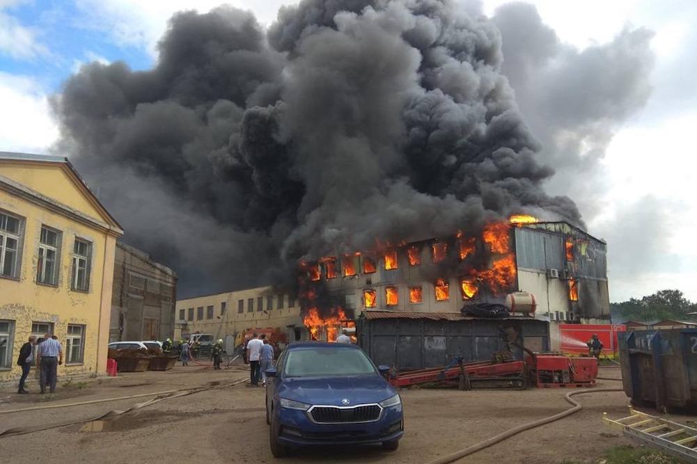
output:
[[380, 376], [284, 378], [278, 396], [313, 405], [378, 403], [397, 392]]

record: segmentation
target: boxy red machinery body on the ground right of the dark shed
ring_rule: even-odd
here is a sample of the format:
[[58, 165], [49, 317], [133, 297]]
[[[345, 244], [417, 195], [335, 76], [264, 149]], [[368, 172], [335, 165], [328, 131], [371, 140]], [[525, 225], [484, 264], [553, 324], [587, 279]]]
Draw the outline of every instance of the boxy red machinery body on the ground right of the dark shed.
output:
[[530, 380], [538, 388], [592, 387], [598, 375], [595, 357], [527, 356]]

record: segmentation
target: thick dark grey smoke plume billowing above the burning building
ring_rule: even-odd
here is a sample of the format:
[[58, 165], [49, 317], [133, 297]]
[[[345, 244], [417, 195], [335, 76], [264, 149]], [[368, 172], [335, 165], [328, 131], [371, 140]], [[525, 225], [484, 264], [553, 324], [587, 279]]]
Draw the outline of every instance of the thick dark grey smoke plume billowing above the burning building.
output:
[[507, 29], [502, 51], [472, 12], [305, 0], [268, 34], [228, 6], [178, 13], [152, 70], [91, 63], [68, 79], [59, 149], [182, 295], [288, 283], [299, 258], [523, 210], [583, 224], [542, 188], [554, 148], [501, 71]]

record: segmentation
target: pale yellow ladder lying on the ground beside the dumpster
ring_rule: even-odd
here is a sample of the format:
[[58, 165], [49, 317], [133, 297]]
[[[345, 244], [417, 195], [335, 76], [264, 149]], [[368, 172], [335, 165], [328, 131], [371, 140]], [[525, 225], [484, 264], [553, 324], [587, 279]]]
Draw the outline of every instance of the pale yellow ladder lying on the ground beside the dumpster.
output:
[[629, 406], [629, 416], [610, 419], [603, 412], [603, 420], [619, 426], [625, 435], [659, 447], [668, 454], [682, 458], [689, 463], [697, 463], [697, 428], [648, 415]]

